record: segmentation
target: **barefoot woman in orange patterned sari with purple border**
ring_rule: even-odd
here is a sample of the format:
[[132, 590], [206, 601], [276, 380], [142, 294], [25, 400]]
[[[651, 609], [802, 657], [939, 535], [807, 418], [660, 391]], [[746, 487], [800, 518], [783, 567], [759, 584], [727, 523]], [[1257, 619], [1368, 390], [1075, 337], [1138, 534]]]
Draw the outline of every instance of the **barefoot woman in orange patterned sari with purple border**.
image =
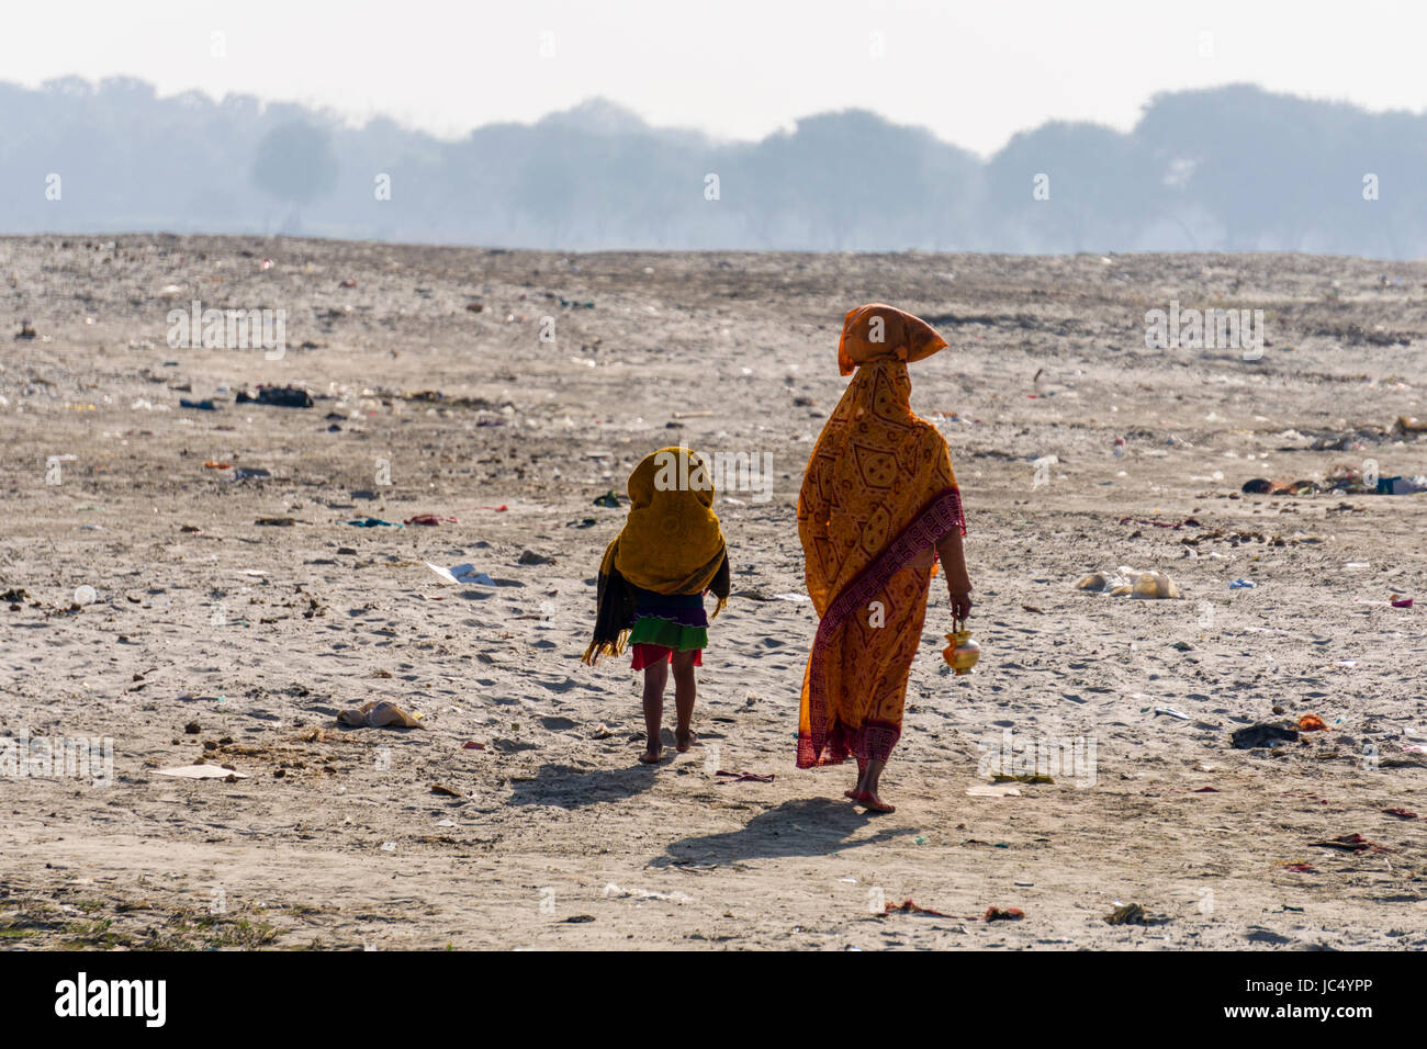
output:
[[[890, 305], [852, 310], [838, 343], [856, 373], [813, 447], [798, 497], [808, 594], [821, 621], [803, 675], [798, 768], [858, 759], [848, 798], [893, 812], [878, 794], [902, 735], [908, 672], [922, 638], [935, 555], [952, 615], [970, 614], [966, 522], [946, 441], [912, 414], [909, 361], [946, 347]], [[933, 552], [935, 551], [935, 552]]]

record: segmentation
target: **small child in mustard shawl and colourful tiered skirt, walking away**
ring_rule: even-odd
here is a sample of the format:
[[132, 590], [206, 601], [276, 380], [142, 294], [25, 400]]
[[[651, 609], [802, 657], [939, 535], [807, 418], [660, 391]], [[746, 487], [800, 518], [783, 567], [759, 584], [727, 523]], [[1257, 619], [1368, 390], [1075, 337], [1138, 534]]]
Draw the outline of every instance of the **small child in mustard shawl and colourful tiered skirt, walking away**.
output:
[[664, 688], [674, 667], [678, 712], [675, 744], [695, 742], [694, 668], [708, 645], [704, 594], [728, 601], [728, 551], [714, 514], [714, 484], [704, 460], [679, 445], [661, 448], [629, 475], [629, 520], [599, 564], [595, 637], [584, 662], [618, 655], [634, 645], [632, 669], [644, 671], [644, 726], [648, 746], [639, 761], [659, 761]]

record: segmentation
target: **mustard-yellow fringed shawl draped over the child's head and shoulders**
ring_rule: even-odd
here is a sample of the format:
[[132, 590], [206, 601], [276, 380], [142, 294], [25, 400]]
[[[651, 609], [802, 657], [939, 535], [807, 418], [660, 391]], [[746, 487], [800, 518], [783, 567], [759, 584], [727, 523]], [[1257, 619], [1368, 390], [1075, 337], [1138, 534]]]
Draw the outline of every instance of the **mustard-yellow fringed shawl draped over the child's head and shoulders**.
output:
[[629, 475], [629, 517], [599, 564], [595, 637], [585, 662], [624, 651], [636, 611], [631, 587], [655, 594], [729, 592], [728, 551], [708, 465], [684, 445], [645, 455]]

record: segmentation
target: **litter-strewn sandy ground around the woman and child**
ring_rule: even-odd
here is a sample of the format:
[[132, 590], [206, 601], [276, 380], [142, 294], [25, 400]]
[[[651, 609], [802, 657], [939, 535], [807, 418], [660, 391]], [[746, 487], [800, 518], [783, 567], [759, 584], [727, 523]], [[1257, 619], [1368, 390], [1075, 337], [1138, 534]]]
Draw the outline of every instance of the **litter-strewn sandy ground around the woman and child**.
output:
[[[1427, 472], [1390, 431], [1427, 417], [1427, 264], [11, 238], [0, 291], [0, 739], [110, 738], [114, 774], [0, 776], [9, 946], [1427, 945], [1424, 821], [1384, 812], [1427, 815], [1404, 749], [1427, 741], [1427, 605], [1387, 604], [1427, 602], [1427, 495], [1239, 492]], [[285, 355], [170, 348], [194, 298], [285, 310]], [[952, 344], [913, 407], [942, 412], [983, 647], [948, 674], [935, 581], [889, 816], [841, 796], [848, 768], [793, 766], [815, 617], [779, 597], [842, 314], [869, 300]], [[1146, 348], [1172, 300], [1263, 308], [1263, 360]], [[258, 382], [315, 404], [234, 404]], [[735, 598], [702, 746], [649, 769], [628, 661], [579, 654], [624, 517], [594, 501], [678, 440], [773, 472], [766, 501], [718, 505]], [[424, 512], [458, 524], [342, 524]], [[1120, 564], [1183, 598], [1075, 589]], [[337, 726], [371, 699], [425, 728]], [[1330, 731], [1229, 744], [1310, 712]], [[969, 795], [1003, 729], [1093, 741], [1093, 775]], [[157, 775], [201, 759], [245, 778]], [[1313, 845], [1350, 833], [1383, 851]], [[946, 916], [873, 913], [908, 898]], [[1132, 902], [1149, 923], [1104, 921]]]

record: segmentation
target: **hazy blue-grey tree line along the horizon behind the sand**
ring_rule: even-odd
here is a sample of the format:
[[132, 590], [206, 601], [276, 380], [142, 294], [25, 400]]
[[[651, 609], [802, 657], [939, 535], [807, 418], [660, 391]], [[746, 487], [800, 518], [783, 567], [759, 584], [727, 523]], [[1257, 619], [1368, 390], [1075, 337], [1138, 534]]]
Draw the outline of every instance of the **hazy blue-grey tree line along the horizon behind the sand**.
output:
[[[1129, 133], [1046, 123], [989, 160], [848, 108], [758, 143], [594, 100], [441, 141], [391, 120], [110, 78], [0, 83], [0, 230], [549, 250], [1427, 255], [1427, 116], [1240, 84]], [[176, 163], [177, 158], [177, 163]]]

